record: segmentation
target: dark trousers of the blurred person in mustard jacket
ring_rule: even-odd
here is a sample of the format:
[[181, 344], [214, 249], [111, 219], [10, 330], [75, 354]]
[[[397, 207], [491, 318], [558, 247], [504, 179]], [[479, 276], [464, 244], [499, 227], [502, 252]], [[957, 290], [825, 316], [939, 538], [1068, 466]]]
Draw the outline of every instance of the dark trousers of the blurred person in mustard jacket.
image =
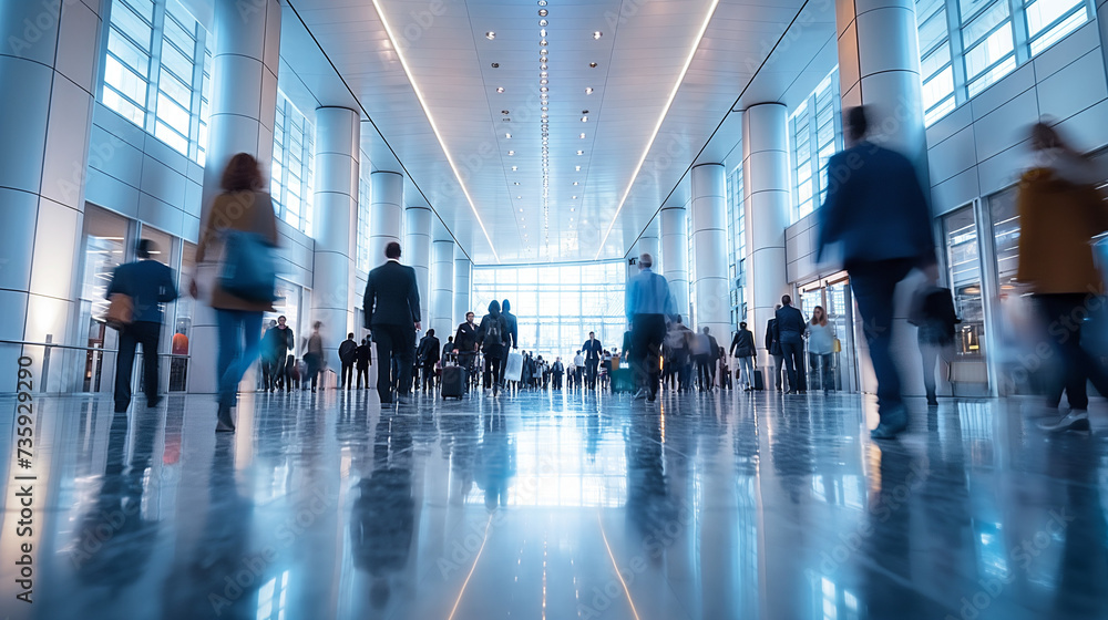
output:
[[[1108, 395], [1108, 372], [1098, 358], [1081, 347], [1081, 322], [1089, 314], [1090, 303], [1084, 293], [1036, 294], [1042, 320], [1046, 323], [1049, 344], [1059, 360], [1060, 373], [1053, 373], [1047, 386], [1047, 404], [1057, 406], [1066, 390], [1069, 409], [1089, 407], [1088, 382]], [[1101, 303], [1095, 300], [1095, 303]], [[1097, 306], [1099, 307], [1099, 306]]]

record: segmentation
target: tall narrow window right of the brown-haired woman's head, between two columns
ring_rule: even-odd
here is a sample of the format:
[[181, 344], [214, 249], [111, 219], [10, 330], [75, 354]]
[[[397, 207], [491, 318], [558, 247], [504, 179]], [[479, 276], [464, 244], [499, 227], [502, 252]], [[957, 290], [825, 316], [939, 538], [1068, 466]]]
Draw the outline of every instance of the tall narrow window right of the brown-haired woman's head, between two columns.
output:
[[277, 93], [270, 194], [277, 217], [311, 236], [316, 130], [284, 93]]

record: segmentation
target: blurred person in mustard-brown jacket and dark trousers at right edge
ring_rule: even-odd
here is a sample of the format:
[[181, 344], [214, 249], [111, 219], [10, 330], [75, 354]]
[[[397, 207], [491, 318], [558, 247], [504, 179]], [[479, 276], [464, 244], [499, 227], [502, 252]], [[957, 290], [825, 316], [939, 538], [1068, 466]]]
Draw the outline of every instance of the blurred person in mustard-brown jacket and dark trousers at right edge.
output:
[[1042, 422], [1045, 431], [1089, 430], [1086, 384], [1108, 394], [1108, 371], [1081, 348], [1081, 323], [1099, 304], [1104, 277], [1092, 259], [1092, 237], [1108, 230], [1108, 203], [1099, 175], [1045, 123], [1032, 127], [1035, 163], [1019, 180], [1019, 269], [1016, 279], [1039, 308], [1053, 355], [1060, 364], [1048, 404], [1065, 389], [1069, 412]]

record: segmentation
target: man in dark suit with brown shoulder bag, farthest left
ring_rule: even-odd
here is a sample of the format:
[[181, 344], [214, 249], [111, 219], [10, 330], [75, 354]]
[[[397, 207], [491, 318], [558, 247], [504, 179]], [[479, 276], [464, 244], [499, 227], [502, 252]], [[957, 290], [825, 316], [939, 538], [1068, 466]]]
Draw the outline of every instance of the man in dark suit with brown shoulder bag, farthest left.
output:
[[109, 299], [120, 293], [131, 297], [134, 304], [131, 324], [120, 330], [120, 353], [115, 366], [115, 413], [125, 413], [131, 406], [131, 374], [134, 372], [135, 350], [142, 344], [143, 392], [146, 406], [157, 406], [157, 341], [162, 335], [162, 303], [177, 299], [173, 285], [173, 270], [151, 259], [157, 246], [150, 239], [138, 241], [138, 260], [120, 265], [107, 286]]

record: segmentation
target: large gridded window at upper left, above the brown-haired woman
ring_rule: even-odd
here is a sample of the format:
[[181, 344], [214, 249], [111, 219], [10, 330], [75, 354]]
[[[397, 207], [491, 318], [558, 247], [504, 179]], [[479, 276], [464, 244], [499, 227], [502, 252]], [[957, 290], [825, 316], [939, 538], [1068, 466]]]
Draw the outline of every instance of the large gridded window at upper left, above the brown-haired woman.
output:
[[177, 0], [113, 0], [100, 100], [204, 163], [212, 54], [207, 34]]

